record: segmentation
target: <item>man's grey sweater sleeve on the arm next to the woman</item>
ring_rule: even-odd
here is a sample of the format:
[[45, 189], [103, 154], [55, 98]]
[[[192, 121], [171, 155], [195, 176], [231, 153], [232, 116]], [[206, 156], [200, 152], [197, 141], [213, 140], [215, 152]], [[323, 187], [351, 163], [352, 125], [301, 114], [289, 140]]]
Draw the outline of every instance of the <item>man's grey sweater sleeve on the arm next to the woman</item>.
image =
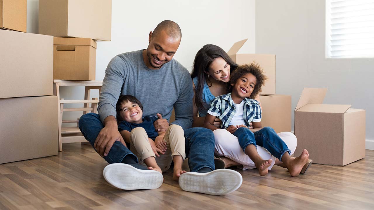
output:
[[177, 124], [183, 130], [189, 129], [193, 121], [193, 86], [189, 74], [184, 77], [183, 84], [177, 102], [174, 104], [175, 121], [171, 124]]

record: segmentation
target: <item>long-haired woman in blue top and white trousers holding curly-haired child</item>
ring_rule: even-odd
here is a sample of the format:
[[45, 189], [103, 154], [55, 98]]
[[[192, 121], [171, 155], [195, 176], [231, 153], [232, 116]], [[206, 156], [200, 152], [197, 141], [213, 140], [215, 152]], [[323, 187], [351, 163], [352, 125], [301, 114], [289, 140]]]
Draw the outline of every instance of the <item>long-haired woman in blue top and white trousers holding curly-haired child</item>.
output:
[[[211, 101], [220, 95], [226, 94], [226, 83], [230, 81], [230, 73], [238, 65], [232, 61], [227, 53], [214, 44], [206, 44], [200, 49], [195, 57], [191, 77], [194, 88], [194, 108], [193, 108], [193, 127], [203, 127], [205, 116], [209, 109]], [[260, 101], [259, 96], [256, 98]], [[260, 104], [261, 106], [261, 104]], [[219, 127], [221, 121], [216, 118], [214, 126]], [[252, 126], [252, 123], [250, 124]], [[249, 127], [252, 129], [252, 127]], [[238, 166], [239, 168], [254, 169], [254, 162], [246, 155], [238, 143], [237, 137], [224, 129], [217, 129], [214, 132], [215, 155], [225, 162], [226, 167]], [[297, 146], [296, 136], [291, 132], [281, 132], [278, 136], [286, 143], [294, 153]], [[285, 167], [284, 164], [271, 155], [261, 146], [257, 147], [258, 154], [264, 159], [272, 159], [272, 165]], [[310, 166], [308, 161], [301, 174]]]

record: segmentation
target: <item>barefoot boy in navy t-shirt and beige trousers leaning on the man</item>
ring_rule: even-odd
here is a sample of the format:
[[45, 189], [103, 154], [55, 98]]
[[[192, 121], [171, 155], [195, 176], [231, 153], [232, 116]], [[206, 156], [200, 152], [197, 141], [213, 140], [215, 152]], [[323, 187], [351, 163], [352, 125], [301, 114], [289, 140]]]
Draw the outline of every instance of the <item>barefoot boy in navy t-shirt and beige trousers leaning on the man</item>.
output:
[[[121, 95], [116, 104], [118, 129], [123, 139], [130, 143], [130, 150], [149, 169], [160, 173], [169, 169], [174, 161], [173, 179], [178, 180], [186, 173], [182, 170], [185, 152], [184, 132], [181, 126], [170, 125], [166, 132], [156, 132], [154, 121], [162, 118], [145, 116], [143, 106], [131, 95]], [[159, 154], [160, 153], [160, 154]], [[157, 157], [156, 157], [157, 155]]]

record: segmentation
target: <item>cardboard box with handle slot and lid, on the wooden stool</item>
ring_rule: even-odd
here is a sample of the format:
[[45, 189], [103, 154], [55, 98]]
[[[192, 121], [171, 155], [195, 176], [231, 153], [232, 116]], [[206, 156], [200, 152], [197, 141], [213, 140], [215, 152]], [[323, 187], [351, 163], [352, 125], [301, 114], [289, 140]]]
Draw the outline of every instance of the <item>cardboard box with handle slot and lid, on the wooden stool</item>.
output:
[[90, 38], [53, 38], [53, 79], [95, 80], [96, 47]]

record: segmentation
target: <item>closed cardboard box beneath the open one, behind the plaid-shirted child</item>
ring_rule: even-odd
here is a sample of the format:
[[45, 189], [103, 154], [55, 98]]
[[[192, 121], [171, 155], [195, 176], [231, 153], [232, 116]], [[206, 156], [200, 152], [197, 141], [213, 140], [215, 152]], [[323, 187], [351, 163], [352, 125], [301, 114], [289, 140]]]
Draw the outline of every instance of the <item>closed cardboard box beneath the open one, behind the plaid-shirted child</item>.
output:
[[291, 132], [291, 96], [271, 95], [260, 96], [261, 124], [272, 127], [275, 132]]

